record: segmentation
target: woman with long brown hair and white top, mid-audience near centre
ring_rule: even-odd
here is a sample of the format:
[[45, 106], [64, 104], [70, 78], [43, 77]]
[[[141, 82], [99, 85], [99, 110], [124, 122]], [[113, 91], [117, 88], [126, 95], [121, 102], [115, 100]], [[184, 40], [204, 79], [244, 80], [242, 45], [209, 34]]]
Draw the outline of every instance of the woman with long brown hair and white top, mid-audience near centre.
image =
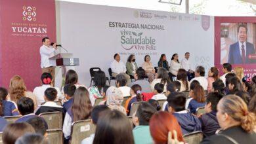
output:
[[154, 81], [152, 81], [152, 83], [150, 84], [151, 90], [154, 91], [155, 84], [162, 83], [164, 85], [163, 92], [166, 92], [167, 91], [166, 86], [170, 82], [171, 82], [171, 80], [170, 80], [170, 77], [168, 75], [168, 71], [165, 68], [160, 67], [158, 69], [158, 78], [154, 79]]

